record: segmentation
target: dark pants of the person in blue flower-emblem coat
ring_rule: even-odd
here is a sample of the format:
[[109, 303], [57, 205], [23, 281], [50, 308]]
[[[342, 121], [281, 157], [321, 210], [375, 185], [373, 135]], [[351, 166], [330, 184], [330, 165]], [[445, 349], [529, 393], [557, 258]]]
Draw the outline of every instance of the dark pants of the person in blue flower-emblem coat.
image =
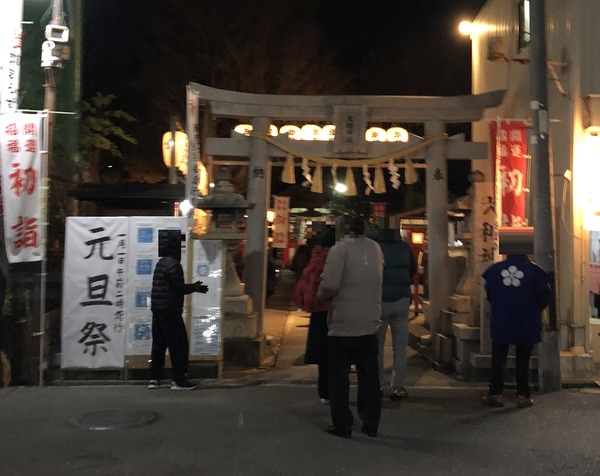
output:
[[[517, 345], [515, 375], [517, 380], [517, 394], [524, 397], [531, 396], [529, 389], [529, 360], [531, 358], [532, 345]], [[506, 368], [506, 356], [508, 355], [508, 344], [492, 342], [492, 372], [490, 376], [490, 394], [502, 395], [504, 391], [504, 369]]]

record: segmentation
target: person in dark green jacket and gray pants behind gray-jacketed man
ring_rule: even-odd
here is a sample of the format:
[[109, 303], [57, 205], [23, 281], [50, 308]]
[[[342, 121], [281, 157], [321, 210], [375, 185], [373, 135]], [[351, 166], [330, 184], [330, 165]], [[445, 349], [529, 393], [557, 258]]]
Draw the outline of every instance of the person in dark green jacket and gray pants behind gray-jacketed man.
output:
[[[404, 388], [406, 377], [406, 348], [408, 346], [408, 314], [412, 294], [410, 286], [417, 272], [417, 260], [400, 231], [392, 229], [386, 219], [373, 230], [370, 238], [378, 242], [383, 252], [383, 285], [381, 294], [381, 325], [379, 326], [379, 380], [383, 385], [385, 337], [388, 326], [392, 330], [392, 391], [390, 400], [403, 400], [408, 394]], [[381, 391], [383, 396], [383, 390]]]

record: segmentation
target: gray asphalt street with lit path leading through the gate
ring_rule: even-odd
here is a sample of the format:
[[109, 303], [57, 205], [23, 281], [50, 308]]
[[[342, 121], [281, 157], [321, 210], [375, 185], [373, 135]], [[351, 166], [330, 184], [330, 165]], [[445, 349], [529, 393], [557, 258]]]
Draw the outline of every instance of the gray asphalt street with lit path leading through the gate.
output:
[[534, 394], [522, 410], [508, 391], [504, 408], [487, 408], [482, 383], [436, 372], [413, 349], [409, 398], [384, 398], [377, 438], [359, 431], [355, 386], [352, 438], [331, 436], [316, 367], [302, 361], [307, 315], [267, 314], [264, 365], [226, 368], [194, 391], [1, 388], [0, 475], [600, 474], [600, 390]]

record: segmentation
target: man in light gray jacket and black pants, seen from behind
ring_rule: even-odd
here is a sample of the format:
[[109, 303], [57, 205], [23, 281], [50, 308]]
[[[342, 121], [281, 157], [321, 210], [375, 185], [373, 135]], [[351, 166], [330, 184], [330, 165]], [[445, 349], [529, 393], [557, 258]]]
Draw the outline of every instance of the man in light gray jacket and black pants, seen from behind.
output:
[[338, 219], [340, 241], [329, 250], [319, 299], [331, 299], [327, 317], [329, 349], [329, 404], [331, 426], [327, 432], [342, 438], [352, 436], [353, 415], [349, 407], [350, 366], [358, 377], [357, 411], [361, 431], [377, 436], [381, 416], [379, 394], [378, 339], [381, 313], [383, 254], [364, 236], [364, 221]]

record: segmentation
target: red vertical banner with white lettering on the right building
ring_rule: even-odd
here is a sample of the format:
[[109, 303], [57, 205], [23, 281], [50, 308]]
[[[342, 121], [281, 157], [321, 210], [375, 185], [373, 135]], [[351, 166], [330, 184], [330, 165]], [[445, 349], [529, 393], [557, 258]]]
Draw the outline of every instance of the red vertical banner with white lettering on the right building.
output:
[[[527, 226], [527, 129], [525, 121], [490, 122], [490, 146], [500, 226]], [[499, 202], [499, 203], [498, 203]]]

